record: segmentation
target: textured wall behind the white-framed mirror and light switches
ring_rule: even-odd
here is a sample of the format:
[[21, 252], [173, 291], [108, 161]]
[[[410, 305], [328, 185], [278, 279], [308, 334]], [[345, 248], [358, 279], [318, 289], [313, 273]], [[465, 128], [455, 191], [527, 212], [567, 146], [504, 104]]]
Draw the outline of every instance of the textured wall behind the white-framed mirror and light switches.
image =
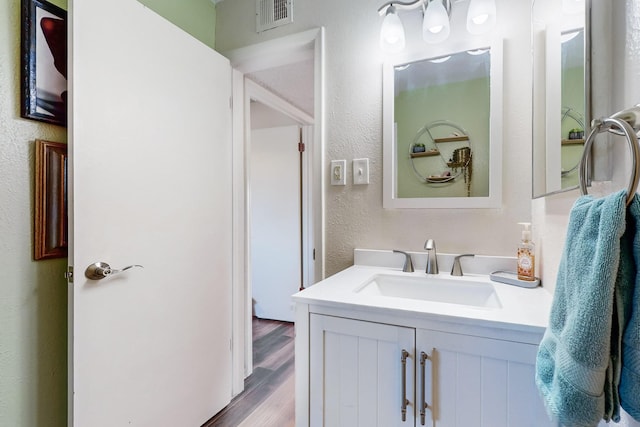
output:
[[[515, 255], [516, 223], [531, 217], [531, 2], [497, 2], [497, 31], [504, 37], [503, 207], [457, 210], [382, 208], [384, 57], [378, 48], [377, 8], [383, 3], [296, 0], [294, 23], [260, 34], [253, 0], [225, 0], [217, 6], [216, 49], [223, 53], [310, 28], [326, 29], [325, 162], [347, 159], [350, 164], [368, 157], [371, 168], [368, 186], [325, 183], [327, 275], [351, 265], [355, 247], [422, 250], [427, 238], [434, 238], [441, 252]], [[454, 8], [467, 6], [466, 1], [454, 3]], [[419, 24], [414, 26], [408, 37], [419, 37]], [[429, 54], [427, 45], [421, 48]]]

